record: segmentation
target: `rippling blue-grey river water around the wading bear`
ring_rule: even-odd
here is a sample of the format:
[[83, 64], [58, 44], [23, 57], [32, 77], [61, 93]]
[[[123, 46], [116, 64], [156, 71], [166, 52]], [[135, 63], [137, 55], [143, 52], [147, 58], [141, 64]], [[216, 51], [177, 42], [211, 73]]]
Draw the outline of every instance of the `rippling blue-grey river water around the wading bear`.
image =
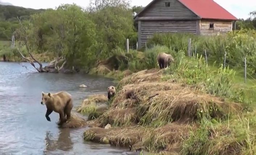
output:
[[59, 115], [53, 112], [47, 121], [46, 106], [41, 105], [42, 91], [64, 90], [72, 95], [75, 108], [88, 95], [106, 93], [112, 79], [38, 73], [29, 63], [22, 65], [0, 62], [0, 155], [135, 155], [129, 149], [84, 142], [88, 128], [60, 129]]

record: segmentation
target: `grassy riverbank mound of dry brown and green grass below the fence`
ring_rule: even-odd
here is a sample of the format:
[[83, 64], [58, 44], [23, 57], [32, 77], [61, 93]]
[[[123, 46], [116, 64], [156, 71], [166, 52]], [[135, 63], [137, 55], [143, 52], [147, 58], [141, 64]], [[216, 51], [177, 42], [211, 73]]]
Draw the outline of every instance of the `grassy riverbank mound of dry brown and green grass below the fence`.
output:
[[[155, 47], [127, 63], [143, 60], [149, 70], [129, 67], [135, 73], [120, 76], [110, 102], [94, 96], [79, 107], [92, 119], [84, 139], [161, 154], [255, 154], [255, 89], [236, 83], [240, 75], [228, 67], [157, 48], [173, 54], [171, 67], [155, 69]], [[102, 102], [107, 108], [97, 112]], [[112, 128], [104, 129], [107, 124]]]

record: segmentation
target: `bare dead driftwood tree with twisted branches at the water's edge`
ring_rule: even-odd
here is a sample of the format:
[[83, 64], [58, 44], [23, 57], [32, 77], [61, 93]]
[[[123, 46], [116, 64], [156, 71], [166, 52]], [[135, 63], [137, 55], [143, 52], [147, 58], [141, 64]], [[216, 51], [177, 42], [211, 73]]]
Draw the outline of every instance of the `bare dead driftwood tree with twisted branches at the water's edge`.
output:
[[[28, 45], [28, 35], [27, 35], [27, 30], [24, 28], [23, 24], [21, 23], [21, 19], [18, 18], [18, 20], [20, 21], [20, 25], [21, 25], [21, 29], [24, 31], [24, 38], [22, 40], [24, 40], [25, 45], [26, 45], [26, 49], [29, 53], [29, 56], [33, 59], [30, 60], [28, 58], [26, 58], [22, 52], [18, 49], [18, 52], [20, 53], [21, 57], [26, 60], [27, 62], [29, 62], [38, 72], [54, 72], [54, 73], [58, 73], [60, 71], [62, 72], [67, 72], [67, 70], [64, 70], [64, 65], [66, 65], [67, 61], [66, 58], [64, 58], [63, 56], [56, 58], [55, 60], [51, 61], [47, 66], [43, 67], [42, 63], [39, 62], [37, 59], [34, 58], [33, 54], [30, 52], [29, 49], [29, 45]], [[20, 39], [21, 40], [21, 39]], [[38, 63], [39, 68], [35, 67], [34, 62]], [[62, 62], [62, 65], [59, 67], [59, 63]], [[74, 71], [74, 70], [73, 70]], [[70, 72], [73, 72], [70, 71]]]

